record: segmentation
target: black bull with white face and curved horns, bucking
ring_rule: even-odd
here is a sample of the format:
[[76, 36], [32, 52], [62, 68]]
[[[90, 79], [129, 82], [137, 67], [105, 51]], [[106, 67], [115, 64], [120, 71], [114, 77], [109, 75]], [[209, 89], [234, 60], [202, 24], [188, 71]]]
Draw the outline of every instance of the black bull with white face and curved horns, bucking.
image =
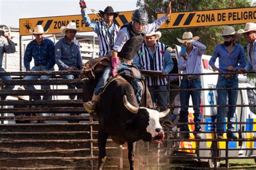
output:
[[[89, 100], [95, 81], [86, 81], [83, 87], [84, 102]], [[130, 169], [134, 169], [135, 142], [153, 140], [161, 143], [164, 131], [159, 123], [159, 118], [166, 116], [169, 109], [158, 112], [157, 110], [139, 107], [134, 90], [130, 83], [124, 79], [112, 81], [105, 89], [98, 103], [98, 169], [102, 169], [106, 161], [106, 140], [111, 137], [114, 143], [122, 145], [127, 141]]]

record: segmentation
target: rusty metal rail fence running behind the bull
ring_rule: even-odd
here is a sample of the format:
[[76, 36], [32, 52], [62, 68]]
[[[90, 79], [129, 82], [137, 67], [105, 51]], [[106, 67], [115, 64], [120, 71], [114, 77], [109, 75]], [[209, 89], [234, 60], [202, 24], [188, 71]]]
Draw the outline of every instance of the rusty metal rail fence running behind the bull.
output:
[[[51, 74], [53, 78], [51, 80], [21, 79], [22, 76], [31, 74]], [[28, 84], [52, 84], [54, 86], [64, 86], [67, 84], [82, 84], [79, 79], [59, 79], [59, 75], [63, 74], [79, 74], [79, 72], [2, 72], [0, 76], [12, 75], [14, 80], [0, 80], [0, 85], [12, 84], [22, 86]], [[181, 76], [181, 74], [172, 75]], [[210, 73], [210, 75], [212, 75], [212, 73]], [[238, 90], [248, 89], [253, 90], [255, 88], [238, 88]], [[169, 91], [176, 92], [180, 90], [181, 89], [169, 89]], [[200, 90], [227, 89], [204, 88]], [[229, 90], [234, 89], [230, 88]], [[80, 93], [82, 93], [82, 89], [0, 90], [0, 96], [49, 94], [57, 96], [55, 99], [63, 98], [65, 95], [78, 95]], [[96, 168], [98, 162], [98, 122], [91, 119], [83, 108], [82, 103], [83, 101], [81, 99], [69, 100], [67, 97], [50, 101], [0, 101], [0, 121], [2, 122], [2, 124], [0, 124], [0, 167], [8, 169]], [[228, 106], [229, 105], [216, 104], [200, 105], [201, 108]], [[185, 107], [192, 108], [195, 106], [187, 105]], [[235, 107], [255, 107], [255, 104], [242, 103], [235, 105]], [[32, 116], [33, 114], [39, 113], [44, 114], [44, 116]], [[12, 116], [12, 114], [18, 116]], [[15, 121], [31, 122], [15, 124]], [[46, 123], [36, 123], [36, 121], [46, 121]], [[188, 124], [194, 125], [195, 123]], [[176, 137], [183, 132], [179, 130], [174, 132], [166, 130], [164, 144], [152, 144], [139, 141], [136, 149], [136, 166], [139, 169], [214, 169], [219, 167], [220, 160], [225, 160], [225, 167], [218, 169], [227, 169], [232, 168], [228, 166], [228, 160], [230, 159], [256, 159], [254, 145], [244, 146], [255, 142], [256, 139], [249, 137], [252, 133], [256, 132], [256, 129], [238, 129], [235, 131], [235, 133], [239, 134], [238, 139], [215, 139], [215, 132], [206, 131], [205, 126], [214, 126], [216, 123], [213, 121], [202, 122], [200, 124], [204, 127], [201, 132], [202, 139], [190, 138], [181, 140]], [[237, 122], [235, 124], [245, 126], [251, 124], [254, 127], [254, 122]], [[174, 139], [169, 139], [170, 133], [173, 134]], [[237, 147], [230, 148], [229, 145], [234, 142], [237, 143]], [[181, 147], [181, 143], [183, 143], [183, 145], [189, 143], [190, 146]], [[116, 145], [109, 139], [107, 140], [106, 150], [107, 162], [104, 168], [123, 169], [129, 167], [126, 153], [127, 148], [125, 145]], [[187, 150], [190, 152], [187, 152]], [[246, 151], [248, 156], [242, 157], [242, 155], [239, 155], [239, 151]], [[173, 162], [185, 160], [200, 162], [201, 166], [173, 164]], [[248, 168], [256, 168], [256, 166], [250, 166]]]

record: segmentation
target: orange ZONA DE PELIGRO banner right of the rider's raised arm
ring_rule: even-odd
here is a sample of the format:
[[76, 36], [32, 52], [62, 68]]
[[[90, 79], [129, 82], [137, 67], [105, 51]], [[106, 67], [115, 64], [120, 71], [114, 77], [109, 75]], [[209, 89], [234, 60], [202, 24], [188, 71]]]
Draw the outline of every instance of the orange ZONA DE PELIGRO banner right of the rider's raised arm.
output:
[[[157, 17], [163, 16], [160, 13]], [[207, 11], [172, 12], [160, 29], [198, 27], [213, 25], [233, 25], [256, 22], [256, 7], [221, 9]]]

